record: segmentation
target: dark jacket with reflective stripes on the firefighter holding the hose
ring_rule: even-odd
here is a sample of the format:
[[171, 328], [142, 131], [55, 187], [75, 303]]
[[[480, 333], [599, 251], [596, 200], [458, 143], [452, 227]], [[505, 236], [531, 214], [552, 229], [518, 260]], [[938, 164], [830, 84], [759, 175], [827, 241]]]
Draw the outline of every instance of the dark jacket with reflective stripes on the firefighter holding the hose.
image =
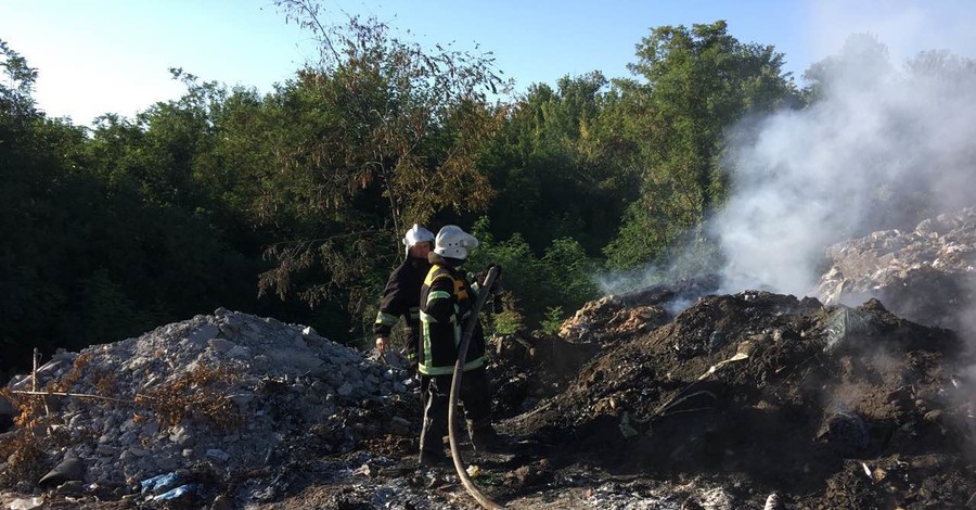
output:
[[[433, 263], [427, 278], [421, 286], [420, 320], [421, 345], [418, 371], [424, 375], [446, 375], [453, 373], [458, 360], [458, 347], [471, 309], [477, 297], [467, 276], [451, 267], [442, 257], [432, 253]], [[485, 365], [485, 333], [481, 324], [475, 324], [464, 371]]]

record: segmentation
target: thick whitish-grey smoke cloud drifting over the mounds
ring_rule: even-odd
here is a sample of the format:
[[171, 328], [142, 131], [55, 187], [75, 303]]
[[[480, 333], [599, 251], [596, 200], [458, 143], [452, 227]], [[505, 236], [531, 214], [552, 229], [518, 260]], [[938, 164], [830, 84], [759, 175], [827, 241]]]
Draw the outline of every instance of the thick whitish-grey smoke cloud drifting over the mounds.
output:
[[896, 65], [861, 35], [807, 77], [810, 106], [731, 136], [734, 190], [710, 225], [727, 290], [807, 294], [826, 246], [976, 201], [973, 61], [940, 51]]

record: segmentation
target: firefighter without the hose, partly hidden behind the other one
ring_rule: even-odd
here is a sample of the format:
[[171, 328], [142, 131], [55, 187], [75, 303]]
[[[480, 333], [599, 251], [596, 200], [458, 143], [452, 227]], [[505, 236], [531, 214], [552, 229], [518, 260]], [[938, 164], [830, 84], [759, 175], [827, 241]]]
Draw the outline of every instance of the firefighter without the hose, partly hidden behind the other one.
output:
[[414, 224], [403, 235], [407, 259], [397, 267], [383, 290], [380, 313], [373, 323], [376, 334], [376, 350], [383, 355], [389, 348], [389, 334], [402, 316], [407, 323], [407, 348], [404, 355], [411, 368], [416, 369], [416, 346], [420, 336], [420, 291], [424, 277], [431, 269], [427, 254], [431, 253], [434, 234]]

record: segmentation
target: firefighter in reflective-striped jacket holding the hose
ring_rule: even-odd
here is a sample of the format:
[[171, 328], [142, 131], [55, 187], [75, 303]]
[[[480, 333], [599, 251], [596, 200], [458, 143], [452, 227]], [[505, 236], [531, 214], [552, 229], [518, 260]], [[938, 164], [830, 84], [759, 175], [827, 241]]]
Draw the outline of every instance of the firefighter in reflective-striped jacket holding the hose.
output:
[[[431, 271], [420, 294], [421, 345], [418, 371], [424, 401], [424, 423], [420, 437], [420, 463], [429, 467], [447, 463], [442, 437], [447, 435], [448, 406], [458, 346], [465, 322], [475, 329], [464, 362], [460, 388], [464, 418], [472, 445], [492, 450], [499, 444], [491, 425], [491, 401], [485, 373], [485, 334], [478, 318], [472, 315], [477, 284], [472, 285], [461, 266], [478, 240], [459, 227], [440, 229], [429, 255]], [[490, 291], [490, 290], [489, 290]]]

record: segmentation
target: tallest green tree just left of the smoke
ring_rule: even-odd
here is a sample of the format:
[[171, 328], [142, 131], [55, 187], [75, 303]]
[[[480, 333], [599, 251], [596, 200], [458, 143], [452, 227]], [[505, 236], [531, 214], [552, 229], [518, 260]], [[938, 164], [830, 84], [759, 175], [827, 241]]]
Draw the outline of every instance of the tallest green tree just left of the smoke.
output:
[[609, 264], [632, 268], [662, 256], [724, 200], [725, 129], [747, 114], [796, 103], [783, 55], [771, 46], [742, 43], [725, 22], [663, 26], [638, 44], [621, 80], [617, 129], [638, 140], [640, 197], [607, 247]]

